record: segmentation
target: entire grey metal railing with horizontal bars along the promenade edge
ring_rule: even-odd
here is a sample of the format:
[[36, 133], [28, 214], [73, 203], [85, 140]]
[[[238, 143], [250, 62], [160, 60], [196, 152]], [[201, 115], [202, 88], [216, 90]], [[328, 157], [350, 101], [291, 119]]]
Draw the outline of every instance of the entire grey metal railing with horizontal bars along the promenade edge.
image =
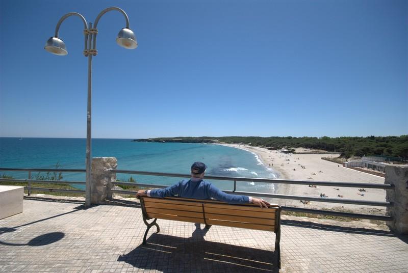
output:
[[[16, 168], [0, 168], [0, 171], [18, 171], [18, 172], [28, 172], [28, 179], [10, 179], [10, 178], [0, 178], [0, 182], [22, 182], [28, 183], [27, 187], [29, 194], [31, 190], [41, 190], [49, 192], [74, 192], [74, 193], [85, 193], [85, 190], [72, 190], [72, 189], [53, 189], [53, 188], [39, 188], [32, 187], [31, 183], [63, 183], [63, 184], [85, 184], [82, 181], [61, 181], [61, 180], [34, 180], [31, 179], [31, 172], [75, 172], [75, 173], [85, 173], [83, 169], [16, 169]], [[190, 178], [188, 174], [174, 174], [174, 173], [159, 173], [159, 172], [144, 172], [144, 171], [132, 171], [132, 170], [111, 170], [114, 173], [121, 174], [137, 174], [137, 175], [149, 175], [149, 176], [163, 176], [163, 177], [179, 177], [179, 178]], [[261, 182], [261, 183], [272, 183], [272, 184], [298, 184], [298, 185], [319, 185], [319, 186], [336, 186], [336, 187], [358, 187], [358, 188], [380, 188], [380, 189], [393, 189], [391, 184], [375, 184], [375, 183], [359, 183], [359, 182], [327, 182], [327, 181], [304, 181], [304, 180], [284, 180], [284, 179], [267, 179], [267, 178], [247, 178], [247, 177], [224, 177], [224, 176], [206, 176], [206, 179], [210, 180], [223, 180], [223, 181], [233, 181], [233, 190], [223, 190], [223, 192], [228, 194], [236, 195], [250, 195], [255, 197], [264, 198], [276, 198], [276, 199], [290, 199], [290, 200], [304, 200], [304, 201], [315, 201], [324, 203], [340, 203], [340, 204], [354, 204], [354, 205], [365, 205], [365, 206], [383, 206], [391, 207], [394, 204], [392, 202], [379, 202], [379, 201], [364, 201], [364, 200], [354, 200], [354, 199], [343, 199], [343, 198], [321, 198], [321, 197], [309, 197], [309, 196], [297, 196], [297, 195], [280, 195], [280, 194], [266, 194], [266, 193], [254, 193], [254, 192], [242, 192], [237, 190], [238, 182]], [[149, 183], [135, 183], [135, 182], [113, 182], [115, 185], [132, 185], [141, 187], [154, 187], [154, 188], [165, 188], [168, 185], [157, 185]], [[111, 189], [112, 193], [118, 194], [130, 194], [134, 195], [135, 192], [132, 190], [117, 190]], [[288, 207], [282, 206], [283, 210], [286, 211], [296, 211], [296, 212], [307, 212], [314, 214], [324, 214], [333, 216], [344, 216], [352, 218], [361, 219], [371, 219], [371, 220], [381, 220], [381, 221], [391, 221], [393, 218], [391, 216], [383, 215], [372, 215], [372, 214], [360, 214], [360, 213], [348, 213], [348, 212], [338, 212], [338, 211], [328, 211], [328, 210], [318, 210], [318, 209], [308, 209], [308, 208], [298, 208], [298, 207]]]

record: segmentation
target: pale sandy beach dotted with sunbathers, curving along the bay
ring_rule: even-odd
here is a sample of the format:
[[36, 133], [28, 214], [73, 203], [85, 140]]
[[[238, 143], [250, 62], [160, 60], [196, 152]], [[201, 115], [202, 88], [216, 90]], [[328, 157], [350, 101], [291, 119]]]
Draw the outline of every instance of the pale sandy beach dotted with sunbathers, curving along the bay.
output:
[[[321, 159], [328, 156], [339, 156], [336, 154], [285, 154], [281, 151], [267, 150], [266, 148], [252, 147], [239, 144], [223, 144], [226, 146], [244, 149], [258, 154], [266, 167], [272, 168], [278, 173], [279, 179], [307, 180], [313, 185], [313, 181], [333, 181], [333, 182], [365, 182], [384, 184], [384, 177], [379, 177], [352, 169], [344, 168], [338, 163]], [[298, 148], [296, 152], [313, 152]], [[276, 194], [299, 195], [320, 197], [320, 194], [330, 198], [344, 198], [366, 201], [381, 201], [386, 199], [384, 189], [366, 188], [365, 192], [360, 192], [359, 188], [351, 187], [330, 187], [295, 185], [295, 184], [275, 184]], [[322, 197], [324, 199], [324, 197]], [[339, 203], [323, 203], [310, 201], [304, 204], [299, 200], [272, 199], [273, 203], [283, 206], [305, 207], [305, 208], [339, 208], [351, 209], [354, 212], [374, 212], [385, 213], [385, 207], [361, 206]]]

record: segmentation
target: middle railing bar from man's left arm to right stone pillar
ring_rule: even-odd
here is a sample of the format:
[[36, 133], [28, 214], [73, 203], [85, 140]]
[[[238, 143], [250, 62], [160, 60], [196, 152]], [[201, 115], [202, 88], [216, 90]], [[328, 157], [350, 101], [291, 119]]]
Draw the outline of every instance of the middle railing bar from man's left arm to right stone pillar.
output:
[[340, 198], [328, 198], [328, 197], [309, 197], [300, 195], [278, 195], [278, 194], [260, 194], [252, 192], [233, 192], [232, 190], [223, 190], [227, 194], [235, 195], [249, 195], [258, 197], [268, 197], [268, 198], [278, 198], [278, 199], [292, 199], [292, 200], [308, 200], [324, 203], [341, 203], [341, 204], [353, 204], [353, 205], [365, 205], [365, 206], [383, 206], [392, 207], [391, 202], [379, 202], [379, 201], [364, 201], [364, 200], [354, 200], [354, 199], [340, 199]]

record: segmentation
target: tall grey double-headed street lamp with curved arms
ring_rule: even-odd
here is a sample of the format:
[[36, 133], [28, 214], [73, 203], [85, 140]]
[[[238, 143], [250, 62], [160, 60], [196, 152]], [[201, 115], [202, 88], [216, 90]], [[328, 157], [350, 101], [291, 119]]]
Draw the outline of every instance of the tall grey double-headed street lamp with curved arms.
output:
[[86, 126], [86, 182], [85, 182], [85, 205], [91, 205], [91, 99], [92, 99], [92, 56], [96, 56], [98, 51], [96, 50], [96, 35], [98, 30], [96, 28], [99, 19], [102, 15], [108, 11], [116, 10], [123, 14], [126, 20], [125, 28], [121, 29], [116, 38], [116, 43], [121, 47], [127, 49], [134, 49], [138, 46], [135, 34], [129, 29], [129, 17], [120, 8], [110, 7], [101, 11], [95, 19], [95, 24], [92, 28], [92, 23], [87, 24], [84, 16], [77, 12], [70, 12], [61, 17], [55, 28], [55, 36], [51, 37], [45, 43], [44, 49], [50, 53], [64, 56], [68, 54], [65, 43], [58, 37], [58, 31], [61, 23], [70, 16], [78, 16], [84, 22], [84, 35], [85, 35], [85, 47], [84, 56], [88, 57], [88, 112], [87, 112], [87, 126]]

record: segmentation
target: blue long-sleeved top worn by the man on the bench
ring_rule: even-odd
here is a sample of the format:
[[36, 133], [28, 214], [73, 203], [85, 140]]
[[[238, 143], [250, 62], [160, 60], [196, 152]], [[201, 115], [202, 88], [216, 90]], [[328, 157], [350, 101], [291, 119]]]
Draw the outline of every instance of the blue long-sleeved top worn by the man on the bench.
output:
[[210, 182], [198, 178], [192, 178], [190, 180], [184, 179], [166, 188], [152, 189], [148, 191], [147, 195], [159, 198], [175, 195], [184, 198], [204, 200], [213, 198], [230, 204], [249, 203], [248, 196], [226, 194]]

